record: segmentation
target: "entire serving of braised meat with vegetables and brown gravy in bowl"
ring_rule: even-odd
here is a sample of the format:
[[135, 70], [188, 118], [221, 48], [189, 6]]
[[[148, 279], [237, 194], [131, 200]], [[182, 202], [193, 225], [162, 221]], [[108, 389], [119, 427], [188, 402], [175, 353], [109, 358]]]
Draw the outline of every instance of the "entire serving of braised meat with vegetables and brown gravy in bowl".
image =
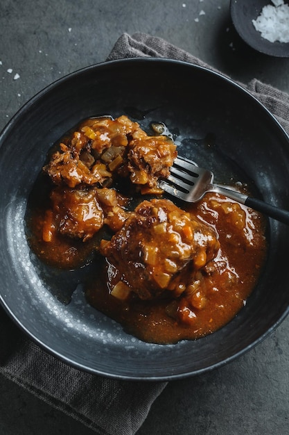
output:
[[218, 194], [184, 208], [163, 195], [159, 177], [177, 156], [164, 131], [149, 136], [124, 115], [82, 122], [44, 165], [47, 195], [36, 195], [28, 222], [42, 261], [71, 269], [89, 258], [89, 303], [153, 343], [229, 322], [266, 252], [259, 213]]

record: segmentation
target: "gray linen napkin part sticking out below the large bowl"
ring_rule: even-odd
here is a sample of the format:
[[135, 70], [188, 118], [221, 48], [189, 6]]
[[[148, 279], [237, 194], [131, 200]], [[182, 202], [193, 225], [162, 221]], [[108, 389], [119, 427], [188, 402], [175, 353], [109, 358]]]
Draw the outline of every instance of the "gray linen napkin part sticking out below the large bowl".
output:
[[165, 382], [89, 375], [47, 354], [0, 309], [0, 373], [100, 435], [133, 435]]

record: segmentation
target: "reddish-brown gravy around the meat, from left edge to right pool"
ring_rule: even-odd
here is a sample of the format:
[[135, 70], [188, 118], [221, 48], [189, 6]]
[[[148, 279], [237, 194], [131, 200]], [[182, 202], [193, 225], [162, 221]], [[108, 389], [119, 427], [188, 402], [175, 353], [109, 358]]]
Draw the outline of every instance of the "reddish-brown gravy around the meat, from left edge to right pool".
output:
[[[142, 300], [133, 292], [128, 298], [118, 299], [111, 290], [119, 282], [119, 272], [99, 253], [100, 240], [109, 239], [110, 230], [101, 229], [86, 242], [60, 233], [55, 233], [49, 243], [43, 240], [52, 188], [42, 175], [28, 204], [31, 249], [44, 263], [60, 269], [89, 264], [93, 272], [89, 272], [84, 283], [89, 304], [141, 340], [176, 343], [211, 334], [234, 318], [256, 286], [266, 256], [263, 217], [231, 199], [208, 193], [198, 204], [180, 205], [218, 234], [220, 249], [199, 278], [196, 275], [198, 286], [192, 285], [191, 292], [173, 298], [165, 291], [152, 300]], [[146, 195], [139, 202], [144, 199]], [[135, 197], [128, 197], [123, 204], [129, 208], [133, 201]], [[186, 274], [186, 269], [182, 273]]]

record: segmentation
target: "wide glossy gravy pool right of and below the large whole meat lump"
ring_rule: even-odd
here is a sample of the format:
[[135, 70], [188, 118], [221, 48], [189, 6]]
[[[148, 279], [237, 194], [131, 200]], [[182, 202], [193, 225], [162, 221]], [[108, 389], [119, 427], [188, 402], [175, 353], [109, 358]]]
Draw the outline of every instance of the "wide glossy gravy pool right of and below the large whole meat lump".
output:
[[[103, 258], [99, 258], [96, 275], [87, 286], [89, 303], [141, 340], [176, 343], [220, 329], [245, 306], [261, 273], [266, 242], [264, 222], [259, 214], [213, 194], [207, 194], [189, 211], [216, 228], [221, 247], [216, 261], [222, 265], [221, 272], [205, 277], [200, 291], [194, 293], [193, 318], [186, 318], [184, 311], [184, 317], [176, 319], [170, 313], [170, 306], [176, 302], [166, 298], [141, 301], [132, 297], [128, 302], [116, 299], [107, 286], [107, 281], [113, 280], [110, 275], [114, 271]], [[186, 302], [185, 296], [177, 299], [181, 307], [186, 307]]]

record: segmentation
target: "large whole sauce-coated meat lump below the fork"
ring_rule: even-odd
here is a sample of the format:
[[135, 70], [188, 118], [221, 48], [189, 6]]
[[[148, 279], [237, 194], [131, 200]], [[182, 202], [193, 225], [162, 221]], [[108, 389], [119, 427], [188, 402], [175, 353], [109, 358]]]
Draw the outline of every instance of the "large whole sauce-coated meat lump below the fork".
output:
[[[212, 227], [166, 199], [143, 201], [100, 252], [119, 271], [124, 286], [141, 299], [186, 290], [176, 279], [188, 265], [197, 271], [216, 256], [220, 245]], [[112, 288], [112, 294], [114, 294]]]

